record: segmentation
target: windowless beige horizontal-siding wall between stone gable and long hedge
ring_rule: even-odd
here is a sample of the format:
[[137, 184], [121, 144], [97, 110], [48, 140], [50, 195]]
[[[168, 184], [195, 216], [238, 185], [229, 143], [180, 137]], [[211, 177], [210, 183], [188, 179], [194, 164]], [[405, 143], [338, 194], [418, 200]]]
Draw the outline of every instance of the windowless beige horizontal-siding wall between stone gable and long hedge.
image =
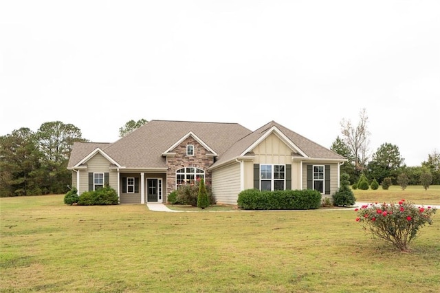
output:
[[241, 192], [240, 163], [212, 171], [212, 195], [217, 204], [234, 204]]

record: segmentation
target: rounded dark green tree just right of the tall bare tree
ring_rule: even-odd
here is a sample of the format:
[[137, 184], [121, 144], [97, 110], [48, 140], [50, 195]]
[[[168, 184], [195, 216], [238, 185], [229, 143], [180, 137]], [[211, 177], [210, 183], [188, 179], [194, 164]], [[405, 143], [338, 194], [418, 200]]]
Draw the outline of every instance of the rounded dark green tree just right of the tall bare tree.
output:
[[395, 177], [400, 165], [404, 162], [401, 158], [399, 147], [385, 142], [373, 154], [373, 160], [369, 162], [368, 173], [370, 178], [376, 178], [382, 183], [385, 177]]

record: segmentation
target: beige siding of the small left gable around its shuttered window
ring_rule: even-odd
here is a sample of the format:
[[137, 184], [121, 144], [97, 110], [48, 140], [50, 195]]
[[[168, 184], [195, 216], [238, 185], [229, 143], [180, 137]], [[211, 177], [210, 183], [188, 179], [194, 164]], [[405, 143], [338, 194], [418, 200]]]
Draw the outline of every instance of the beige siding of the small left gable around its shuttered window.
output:
[[78, 194], [89, 191], [89, 173], [109, 173], [109, 186], [118, 190], [118, 172], [110, 171], [110, 162], [100, 153], [96, 153], [87, 161], [87, 170], [80, 171]]

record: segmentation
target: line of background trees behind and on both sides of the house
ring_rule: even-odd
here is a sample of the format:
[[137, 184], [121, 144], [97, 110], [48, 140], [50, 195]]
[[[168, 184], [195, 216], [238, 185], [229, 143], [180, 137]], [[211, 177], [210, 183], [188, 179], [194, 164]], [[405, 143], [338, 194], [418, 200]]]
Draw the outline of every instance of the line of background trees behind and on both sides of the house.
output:
[[[147, 122], [126, 122], [119, 129], [120, 137]], [[406, 166], [398, 146], [389, 142], [370, 156], [369, 135], [368, 116], [363, 109], [357, 125], [342, 120], [341, 136], [330, 147], [347, 158], [341, 173], [347, 173], [352, 184], [362, 174], [380, 184], [385, 178], [398, 184], [402, 174], [410, 185], [421, 184], [421, 178], [427, 175], [431, 184], [440, 184], [440, 153], [434, 150], [421, 166]], [[78, 127], [61, 121], [45, 122], [36, 132], [23, 127], [0, 136], [0, 197], [67, 193], [72, 184], [72, 173], [67, 170], [72, 145], [88, 141]]]

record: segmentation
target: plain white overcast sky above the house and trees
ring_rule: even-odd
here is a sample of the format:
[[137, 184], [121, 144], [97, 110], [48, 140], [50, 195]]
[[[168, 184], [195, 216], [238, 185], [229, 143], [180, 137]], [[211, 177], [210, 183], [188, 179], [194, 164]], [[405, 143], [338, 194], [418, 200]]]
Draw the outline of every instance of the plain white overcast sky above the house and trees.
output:
[[329, 148], [440, 151], [440, 1], [1, 1], [0, 135], [129, 120], [272, 120]]

